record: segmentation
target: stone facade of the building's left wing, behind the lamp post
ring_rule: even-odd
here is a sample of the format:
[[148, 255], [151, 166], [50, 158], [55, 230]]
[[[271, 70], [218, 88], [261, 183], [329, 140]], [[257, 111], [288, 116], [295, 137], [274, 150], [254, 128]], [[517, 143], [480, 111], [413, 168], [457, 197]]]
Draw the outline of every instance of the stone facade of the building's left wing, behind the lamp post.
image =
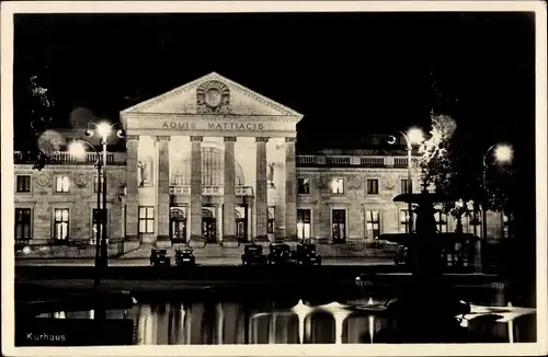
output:
[[[105, 170], [107, 183], [107, 237], [121, 239], [124, 232], [123, 187], [126, 185], [125, 163], [109, 165]], [[31, 164], [15, 165], [18, 176], [30, 177], [27, 193], [15, 193], [15, 209], [31, 209], [30, 244], [44, 244], [54, 239], [55, 209], [68, 209], [68, 237], [70, 241], [88, 243], [94, 240], [92, 215], [96, 208], [98, 194], [94, 189], [98, 172], [91, 164], [50, 164], [42, 171], [35, 171]], [[66, 192], [57, 192], [56, 181], [68, 177]], [[122, 195], [122, 196], [121, 196]]]

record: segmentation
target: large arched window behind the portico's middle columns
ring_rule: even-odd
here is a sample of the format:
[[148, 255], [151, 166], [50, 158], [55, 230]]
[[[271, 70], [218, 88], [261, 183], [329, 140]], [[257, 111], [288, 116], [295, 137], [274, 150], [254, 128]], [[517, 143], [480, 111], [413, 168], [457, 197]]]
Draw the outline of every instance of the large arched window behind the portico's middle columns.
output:
[[[225, 181], [224, 166], [225, 152], [214, 147], [202, 148], [202, 185], [204, 186], [221, 186]], [[171, 175], [172, 185], [190, 185], [192, 174], [192, 159], [189, 154], [173, 169]], [[235, 184], [236, 186], [244, 185], [243, 170], [235, 160]]]

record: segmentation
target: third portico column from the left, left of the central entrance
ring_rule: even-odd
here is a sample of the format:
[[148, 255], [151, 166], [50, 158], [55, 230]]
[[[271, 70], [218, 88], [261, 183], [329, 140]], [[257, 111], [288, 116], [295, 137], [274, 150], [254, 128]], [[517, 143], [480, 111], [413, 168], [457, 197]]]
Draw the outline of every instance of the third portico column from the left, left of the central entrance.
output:
[[202, 140], [191, 137], [191, 241], [202, 242]]

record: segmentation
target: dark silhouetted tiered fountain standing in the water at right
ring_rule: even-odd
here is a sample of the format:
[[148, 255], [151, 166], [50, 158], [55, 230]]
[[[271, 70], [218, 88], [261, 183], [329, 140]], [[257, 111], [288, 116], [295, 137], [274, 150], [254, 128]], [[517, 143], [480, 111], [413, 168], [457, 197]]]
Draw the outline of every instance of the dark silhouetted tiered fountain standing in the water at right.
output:
[[[396, 299], [387, 302], [386, 313], [398, 326], [400, 336], [414, 335], [418, 324], [426, 324], [432, 327], [430, 337], [438, 342], [453, 339], [459, 330], [457, 316], [469, 313], [470, 306], [459, 300], [446, 281], [443, 243], [448, 239], [473, 241], [473, 235], [437, 232], [435, 204], [455, 200], [446, 194], [423, 191], [420, 194], [402, 194], [393, 200], [412, 204], [416, 220], [414, 232], [379, 235], [379, 240], [408, 247], [408, 266], [412, 276], [403, 286], [397, 287]], [[424, 335], [424, 331], [420, 335]]]

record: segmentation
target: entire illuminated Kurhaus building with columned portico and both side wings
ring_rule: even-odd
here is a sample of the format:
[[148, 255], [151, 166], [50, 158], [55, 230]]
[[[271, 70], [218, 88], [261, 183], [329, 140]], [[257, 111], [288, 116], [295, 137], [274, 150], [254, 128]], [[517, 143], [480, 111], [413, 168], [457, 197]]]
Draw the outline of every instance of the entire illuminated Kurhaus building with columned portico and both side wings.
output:
[[[351, 243], [407, 231], [407, 206], [392, 201], [408, 189], [404, 151], [297, 153], [301, 118], [217, 73], [123, 111], [125, 150], [109, 152], [105, 168], [111, 245]], [[62, 134], [84, 137], [83, 129]], [[95, 159], [60, 151], [34, 171], [15, 152], [16, 241], [94, 244]], [[419, 184], [413, 173], [413, 191]], [[456, 228], [443, 214], [437, 222], [441, 231]], [[499, 214], [490, 212], [488, 228], [489, 237], [507, 234]], [[481, 232], [469, 218], [464, 229]]]

